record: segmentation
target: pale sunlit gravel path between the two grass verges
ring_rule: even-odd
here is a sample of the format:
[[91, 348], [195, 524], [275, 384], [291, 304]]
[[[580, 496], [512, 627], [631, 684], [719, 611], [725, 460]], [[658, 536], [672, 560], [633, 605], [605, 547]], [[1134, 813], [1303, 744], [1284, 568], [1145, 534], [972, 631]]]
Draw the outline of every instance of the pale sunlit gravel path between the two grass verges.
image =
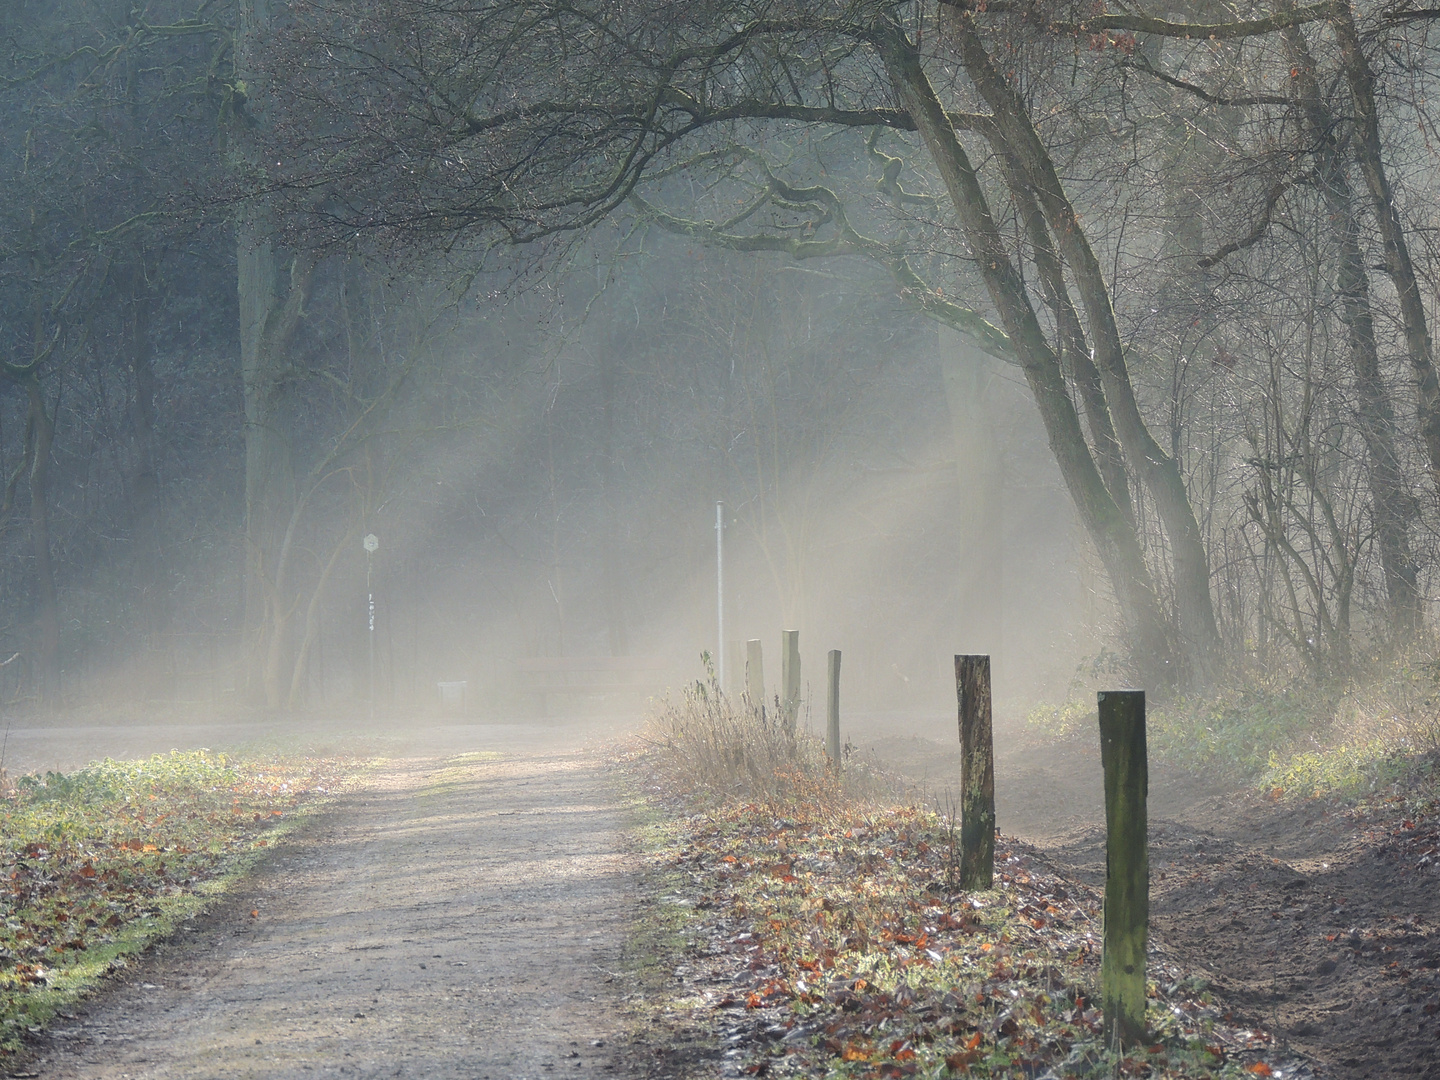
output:
[[634, 857], [583, 753], [397, 760], [59, 1024], [53, 1080], [622, 1076]]

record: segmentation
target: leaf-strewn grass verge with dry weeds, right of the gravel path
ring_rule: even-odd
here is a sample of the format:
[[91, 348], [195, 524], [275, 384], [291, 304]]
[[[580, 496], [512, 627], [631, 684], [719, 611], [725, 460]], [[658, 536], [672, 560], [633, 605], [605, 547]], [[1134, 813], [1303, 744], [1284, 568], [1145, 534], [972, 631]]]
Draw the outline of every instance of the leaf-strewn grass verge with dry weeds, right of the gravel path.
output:
[[[786, 746], [785, 743], [789, 743]], [[770, 773], [765, 775], [757, 762]], [[1152, 959], [1153, 1041], [1100, 1041], [1099, 899], [1001, 840], [958, 888], [958, 829], [812, 740], [697, 687], [626, 759], [668, 896], [657, 1015], [710, 1032], [690, 1074], [1217, 1077], [1283, 1070], [1269, 1035]], [[683, 922], [677, 917], [683, 914]], [[675, 1024], [671, 1025], [674, 1028]]]

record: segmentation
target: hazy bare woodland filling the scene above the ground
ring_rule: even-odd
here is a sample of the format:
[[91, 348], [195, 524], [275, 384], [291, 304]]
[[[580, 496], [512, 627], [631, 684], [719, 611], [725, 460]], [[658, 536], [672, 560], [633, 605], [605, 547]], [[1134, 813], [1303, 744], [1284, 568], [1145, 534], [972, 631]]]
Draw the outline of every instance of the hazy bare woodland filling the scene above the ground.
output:
[[6, 16], [7, 717], [636, 720], [798, 631], [900, 730], [958, 652], [1014, 720], [1430, 648], [1427, 20], [222, 7]]

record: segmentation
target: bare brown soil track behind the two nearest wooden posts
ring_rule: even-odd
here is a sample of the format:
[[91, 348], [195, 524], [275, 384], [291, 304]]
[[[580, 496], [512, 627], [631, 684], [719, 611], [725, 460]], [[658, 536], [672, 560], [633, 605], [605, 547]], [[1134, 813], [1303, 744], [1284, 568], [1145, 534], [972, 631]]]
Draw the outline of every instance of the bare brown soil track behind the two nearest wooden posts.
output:
[[[1102, 886], [1099, 747], [1007, 742], [995, 763], [1001, 829]], [[870, 746], [942, 808], [953, 801], [949, 743]], [[1237, 1021], [1303, 1054], [1316, 1076], [1440, 1077], [1440, 871], [1427, 825], [1405, 829], [1401, 818], [1152, 769], [1153, 948], [1208, 976]]]

